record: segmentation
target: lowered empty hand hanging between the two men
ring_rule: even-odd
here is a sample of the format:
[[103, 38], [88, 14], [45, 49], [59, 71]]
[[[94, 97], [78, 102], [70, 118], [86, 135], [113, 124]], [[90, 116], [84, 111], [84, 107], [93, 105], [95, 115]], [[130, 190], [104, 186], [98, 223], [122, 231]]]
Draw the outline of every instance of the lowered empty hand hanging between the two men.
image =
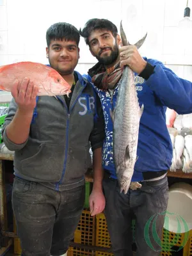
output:
[[101, 189], [94, 189], [90, 195], [90, 214], [94, 216], [102, 212], [106, 205], [106, 199]]

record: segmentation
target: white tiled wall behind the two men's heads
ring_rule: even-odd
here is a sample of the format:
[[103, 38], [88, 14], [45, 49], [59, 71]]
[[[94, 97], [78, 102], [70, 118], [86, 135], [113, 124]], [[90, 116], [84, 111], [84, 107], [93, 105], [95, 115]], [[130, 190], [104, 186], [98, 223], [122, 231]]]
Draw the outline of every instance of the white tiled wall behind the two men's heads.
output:
[[[0, 65], [17, 61], [47, 63], [45, 32], [54, 22], [65, 21], [78, 29], [91, 18], [105, 18], [134, 44], [148, 33], [140, 49], [178, 76], [192, 80], [192, 31], [180, 31], [187, 0], [0, 0]], [[192, 13], [192, 0], [189, 0]], [[192, 15], [192, 14], [191, 14]], [[192, 19], [192, 18], [191, 18]], [[84, 73], [95, 63], [84, 40], [79, 45], [77, 70]]]

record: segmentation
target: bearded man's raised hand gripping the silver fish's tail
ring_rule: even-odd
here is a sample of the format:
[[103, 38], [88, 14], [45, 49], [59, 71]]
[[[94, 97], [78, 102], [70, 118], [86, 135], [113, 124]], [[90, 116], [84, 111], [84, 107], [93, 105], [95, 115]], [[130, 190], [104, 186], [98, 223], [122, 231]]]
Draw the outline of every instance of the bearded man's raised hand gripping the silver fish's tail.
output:
[[126, 45], [120, 48], [120, 67], [128, 65], [133, 72], [140, 74], [147, 65], [135, 45]]

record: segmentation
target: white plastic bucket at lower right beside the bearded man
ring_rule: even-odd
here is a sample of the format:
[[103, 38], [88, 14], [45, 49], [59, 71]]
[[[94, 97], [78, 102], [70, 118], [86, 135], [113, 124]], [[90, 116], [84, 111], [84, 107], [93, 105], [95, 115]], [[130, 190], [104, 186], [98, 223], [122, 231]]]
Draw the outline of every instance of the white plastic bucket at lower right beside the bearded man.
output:
[[164, 228], [174, 233], [184, 233], [192, 229], [191, 185], [179, 182], [170, 187]]

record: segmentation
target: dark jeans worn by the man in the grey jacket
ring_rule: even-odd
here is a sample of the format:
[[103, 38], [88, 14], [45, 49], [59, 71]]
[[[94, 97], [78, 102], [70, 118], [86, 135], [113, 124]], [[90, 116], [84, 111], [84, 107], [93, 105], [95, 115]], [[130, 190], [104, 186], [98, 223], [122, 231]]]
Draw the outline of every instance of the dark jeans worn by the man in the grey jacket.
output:
[[22, 255], [62, 255], [68, 250], [84, 205], [84, 186], [54, 191], [15, 178], [13, 212]]

